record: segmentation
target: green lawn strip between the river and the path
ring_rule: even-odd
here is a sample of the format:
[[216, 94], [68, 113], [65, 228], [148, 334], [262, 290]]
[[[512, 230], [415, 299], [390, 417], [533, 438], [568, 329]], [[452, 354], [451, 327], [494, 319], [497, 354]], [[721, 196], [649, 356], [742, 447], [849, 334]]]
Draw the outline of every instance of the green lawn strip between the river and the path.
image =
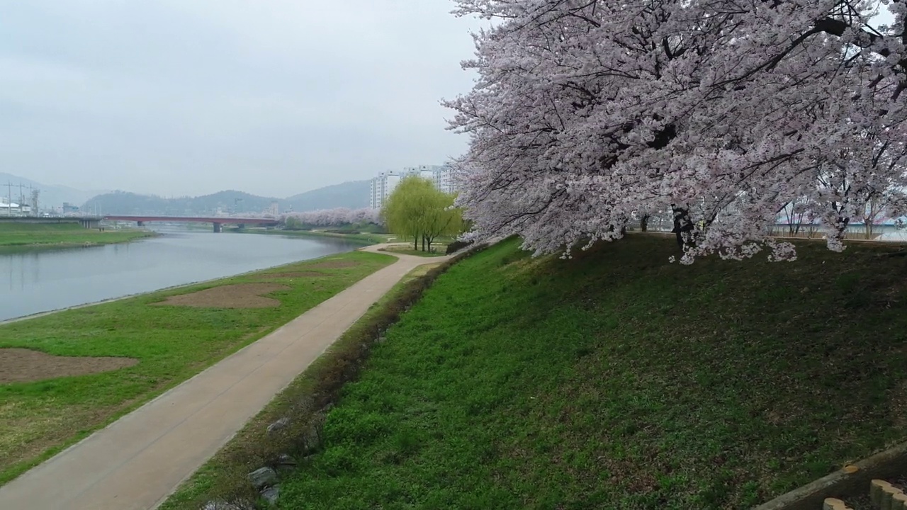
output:
[[[0, 325], [0, 348], [139, 360], [111, 372], [0, 384], [0, 483], [394, 260], [355, 251]], [[234, 284], [275, 290], [261, 296], [266, 301], [261, 308], [160, 304], [173, 296]], [[229, 299], [229, 292], [218, 293], [226, 306], [243, 306]], [[210, 294], [200, 296], [210, 299]], [[268, 304], [271, 299], [278, 306]]]

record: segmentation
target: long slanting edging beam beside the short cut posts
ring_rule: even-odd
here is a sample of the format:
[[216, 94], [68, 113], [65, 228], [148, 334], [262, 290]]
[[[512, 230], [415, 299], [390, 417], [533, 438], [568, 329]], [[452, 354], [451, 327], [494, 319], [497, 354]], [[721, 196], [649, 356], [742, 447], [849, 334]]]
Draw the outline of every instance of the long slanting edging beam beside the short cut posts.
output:
[[816, 510], [826, 497], [863, 495], [875, 478], [891, 478], [907, 473], [907, 443], [893, 446], [831, 475], [775, 497], [754, 510]]

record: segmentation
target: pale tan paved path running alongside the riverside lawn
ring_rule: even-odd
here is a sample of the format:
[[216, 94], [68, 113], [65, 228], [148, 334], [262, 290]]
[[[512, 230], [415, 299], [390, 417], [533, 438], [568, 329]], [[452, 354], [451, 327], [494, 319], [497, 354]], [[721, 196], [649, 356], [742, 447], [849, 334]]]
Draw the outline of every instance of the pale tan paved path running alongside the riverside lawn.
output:
[[148, 510], [161, 505], [406, 273], [447, 259], [398, 258], [0, 487], [0, 509]]

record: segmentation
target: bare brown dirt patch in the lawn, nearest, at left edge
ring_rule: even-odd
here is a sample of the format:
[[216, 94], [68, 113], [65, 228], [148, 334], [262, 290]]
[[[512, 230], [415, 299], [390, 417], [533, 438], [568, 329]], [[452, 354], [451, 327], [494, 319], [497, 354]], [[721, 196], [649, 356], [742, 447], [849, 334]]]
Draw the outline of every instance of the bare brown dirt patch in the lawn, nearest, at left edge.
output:
[[54, 356], [27, 348], [0, 348], [0, 384], [99, 374], [138, 362], [135, 358]]

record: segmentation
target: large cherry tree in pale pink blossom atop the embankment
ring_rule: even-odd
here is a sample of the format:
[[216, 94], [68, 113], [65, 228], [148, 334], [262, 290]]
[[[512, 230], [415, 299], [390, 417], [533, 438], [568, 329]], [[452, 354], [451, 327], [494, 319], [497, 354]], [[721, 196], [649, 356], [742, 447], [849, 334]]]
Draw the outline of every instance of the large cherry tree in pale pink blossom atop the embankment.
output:
[[672, 211], [681, 261], [793, 260], [769, 237], [810, 203], [832, 250], [867, 204], [905, 209], [902, 0], [458, 0], [473, 90], [445, 104], [472, 236], [536, 253]]

